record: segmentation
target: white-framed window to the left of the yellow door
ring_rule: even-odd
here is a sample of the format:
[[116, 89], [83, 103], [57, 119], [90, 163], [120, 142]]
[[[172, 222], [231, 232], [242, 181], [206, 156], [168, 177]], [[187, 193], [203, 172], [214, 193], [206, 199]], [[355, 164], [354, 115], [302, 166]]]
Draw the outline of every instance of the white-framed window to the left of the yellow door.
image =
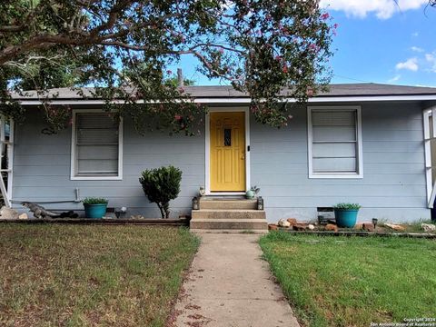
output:
[[72, 179], [122, 178], [122, 126], [99, 110], [74, 112]]

